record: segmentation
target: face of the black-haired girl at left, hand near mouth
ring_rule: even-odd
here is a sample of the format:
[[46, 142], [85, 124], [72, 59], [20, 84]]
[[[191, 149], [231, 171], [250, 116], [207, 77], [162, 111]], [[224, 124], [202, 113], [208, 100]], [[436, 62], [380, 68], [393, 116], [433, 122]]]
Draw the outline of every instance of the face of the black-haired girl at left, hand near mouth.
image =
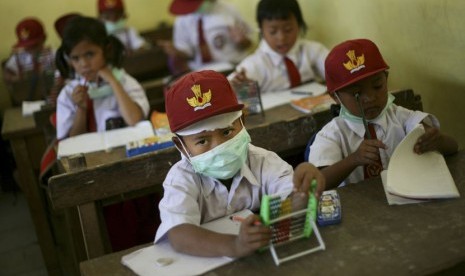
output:
[[69, 58], [76, 73], [90, 81], [96, 81], [98, 72], [106, 65], [102, 47], [88, 40], [74, 46]]

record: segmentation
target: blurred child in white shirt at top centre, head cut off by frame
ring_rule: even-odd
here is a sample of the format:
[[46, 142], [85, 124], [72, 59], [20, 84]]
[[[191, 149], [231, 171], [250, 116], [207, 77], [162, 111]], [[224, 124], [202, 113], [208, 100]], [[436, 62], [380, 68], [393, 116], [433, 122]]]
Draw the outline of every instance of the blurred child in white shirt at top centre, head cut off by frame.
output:
[[251, 28], [233, 6], [223, 1], [173, 0], [170, 12], [177, 15], [173, 42], [158, 44], [170, 57], [175, 75], [211, 62], [236, 64], [252, 45]]

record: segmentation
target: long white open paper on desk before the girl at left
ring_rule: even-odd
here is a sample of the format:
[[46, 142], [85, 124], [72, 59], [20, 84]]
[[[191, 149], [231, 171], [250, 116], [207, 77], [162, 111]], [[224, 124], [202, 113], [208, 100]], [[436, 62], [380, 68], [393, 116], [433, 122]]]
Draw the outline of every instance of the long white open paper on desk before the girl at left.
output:
[[131, 141], [142, 140], [154, 135], [155, 132], [150, 121], [139, 122], [133, 127], [85, 133], [61, 140], [58, 143], [57, 157], [101, 150], [107, 151], [114, 147], [124, 146]]

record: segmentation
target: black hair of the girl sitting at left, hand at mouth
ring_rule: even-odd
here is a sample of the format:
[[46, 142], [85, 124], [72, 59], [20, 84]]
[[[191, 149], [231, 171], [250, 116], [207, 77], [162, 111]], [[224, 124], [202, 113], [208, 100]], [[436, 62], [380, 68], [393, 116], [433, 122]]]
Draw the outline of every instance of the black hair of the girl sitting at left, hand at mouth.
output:
[[60, 74], [65, 78], [74, 78], [74, 70], [68, 57], [77, 44], [87, 40], [103, 49], [108, 64], [120, 68], [123, 63], [125, 47], [121, 41], [108, 35], [103, 23], [93, 17], [76, 16], [67, 22], [63, 30], [61, 46], [55, 55], [55, 64]]

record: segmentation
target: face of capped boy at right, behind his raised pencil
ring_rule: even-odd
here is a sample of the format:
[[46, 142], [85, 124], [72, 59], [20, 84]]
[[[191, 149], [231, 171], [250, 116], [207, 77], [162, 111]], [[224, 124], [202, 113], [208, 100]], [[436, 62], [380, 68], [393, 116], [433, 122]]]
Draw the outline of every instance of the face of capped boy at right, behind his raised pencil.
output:
[[[342, 104], [355, 116], [362, 117], [355, 94], [359, 93], [360, 103], [367, 120], [375, 119], [387, 103], [387, 72], [379, 72], [350, 86], [336, 91]], [[337, 97], [333, 99], [338, 101]]]

